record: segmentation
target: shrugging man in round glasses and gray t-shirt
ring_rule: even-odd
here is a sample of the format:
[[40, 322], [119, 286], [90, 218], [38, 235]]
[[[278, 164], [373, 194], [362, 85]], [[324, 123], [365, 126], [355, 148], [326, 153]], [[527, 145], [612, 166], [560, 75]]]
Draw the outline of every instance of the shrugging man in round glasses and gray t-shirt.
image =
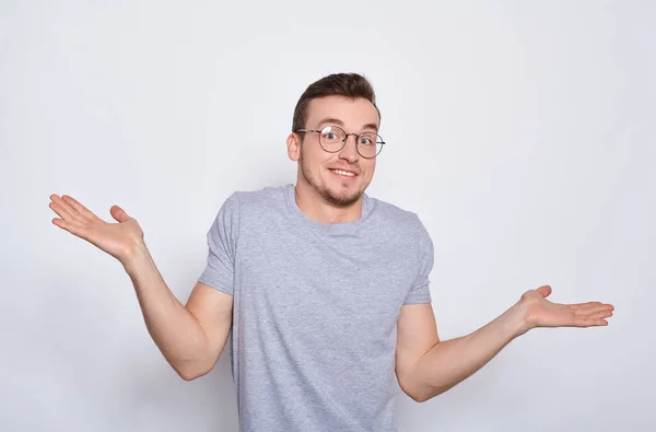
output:
[[538, 326], [604, 326], [612, 306], [524, 293], [471, 335], [440, 341], [431, 307], [433, 244], [419, 218], [371, 198], [384, 141], [359, 74], [307, 87], [288, 154], [296, 185], [235, 192], [209, 233], [208, 264], [186, 305], [157, 271], [137, 221], [105, 223], [68, 196], [52, 222], [124, 265], [147, 327], [185, 380], [212, 370], [232, 330], [242, 431], [395, 431], [393, 380], [417, 401], [449, 389]]

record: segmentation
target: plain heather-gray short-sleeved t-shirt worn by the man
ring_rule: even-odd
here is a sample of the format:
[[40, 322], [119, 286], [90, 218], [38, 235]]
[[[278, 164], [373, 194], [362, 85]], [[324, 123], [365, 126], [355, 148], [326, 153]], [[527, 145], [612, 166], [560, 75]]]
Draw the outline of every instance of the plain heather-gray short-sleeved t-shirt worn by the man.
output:
[[391, 432], [397, 319], [429, 303], [433, 244], [419, 218], [365, 195], [324, 224], [294, 186], [235, 192], [208, 232], [199, 281], [234, 296], [242, 432]]

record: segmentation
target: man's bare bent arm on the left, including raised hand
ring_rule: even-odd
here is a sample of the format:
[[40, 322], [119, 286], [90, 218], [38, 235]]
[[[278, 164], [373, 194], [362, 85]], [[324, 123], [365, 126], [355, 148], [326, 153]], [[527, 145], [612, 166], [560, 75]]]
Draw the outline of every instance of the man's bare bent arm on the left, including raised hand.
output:
[[233, 296], [198, 282], [184, 306], [152, 259], [143, 231], [121, 208], [107, 223], [69, 196], [50, 196], [52, 223], [117, 258], [132, 280], [153, 341], [184, 380], [207, 374], [219, 360], [232, 327]]

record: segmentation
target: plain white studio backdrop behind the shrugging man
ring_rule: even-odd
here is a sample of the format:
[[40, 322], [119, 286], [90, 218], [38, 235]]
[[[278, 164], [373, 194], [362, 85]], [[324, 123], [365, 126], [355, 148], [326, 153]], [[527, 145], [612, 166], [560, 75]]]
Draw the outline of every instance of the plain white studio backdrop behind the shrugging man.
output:
[[295, 183], [301, 93], [354, 71], [388, 142], [367, 192], [432, 235], [443, 339], [546, 283], [616, 305], [427, 402], [397, 386], [399, 431], [656, 430], [655, 23], [647, 1], [3, 1], [0, 429], [236, 431], [229, 351], [179, 378], [48, 197], [126, 209], [185, 302], [224, 199]]

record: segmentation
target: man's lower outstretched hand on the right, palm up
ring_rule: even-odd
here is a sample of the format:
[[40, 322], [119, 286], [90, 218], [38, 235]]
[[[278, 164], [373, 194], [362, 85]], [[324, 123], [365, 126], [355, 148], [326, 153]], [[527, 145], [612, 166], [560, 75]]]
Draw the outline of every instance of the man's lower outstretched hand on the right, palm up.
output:
[[614, 307], [600, 302], [576, 304], [552, 303], [547, 297], [551, 287], [542, 285], [522, 295], [518, 305], [525, 311], [526, 322], [532, 327], [595, 327], [607, 326]]

